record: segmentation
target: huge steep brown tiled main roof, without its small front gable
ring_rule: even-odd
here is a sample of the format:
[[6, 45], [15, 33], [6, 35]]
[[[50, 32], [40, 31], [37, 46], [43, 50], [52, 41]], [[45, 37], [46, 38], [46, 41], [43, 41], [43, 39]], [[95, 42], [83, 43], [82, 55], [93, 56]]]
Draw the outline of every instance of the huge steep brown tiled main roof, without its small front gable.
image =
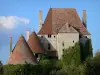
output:
[[38, 34], [57, 34], [66, 22], [80, 29], [82, 34], [90, 34], [86, 28], [83, 27], [77, 11], [74, 8], [50, 8], [44, 25]]

